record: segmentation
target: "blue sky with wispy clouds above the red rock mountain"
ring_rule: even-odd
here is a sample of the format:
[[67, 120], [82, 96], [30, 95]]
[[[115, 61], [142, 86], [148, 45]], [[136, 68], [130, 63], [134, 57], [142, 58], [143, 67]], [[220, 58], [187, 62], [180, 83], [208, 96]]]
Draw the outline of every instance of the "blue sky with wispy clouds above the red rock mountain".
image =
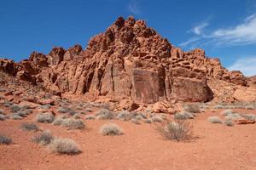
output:
[[256, 0], [1, 0], [0, 57], [86, 47], [119, 16], [146, 20], [174, 46], [203, 48], [230, 70], [256, 74]]

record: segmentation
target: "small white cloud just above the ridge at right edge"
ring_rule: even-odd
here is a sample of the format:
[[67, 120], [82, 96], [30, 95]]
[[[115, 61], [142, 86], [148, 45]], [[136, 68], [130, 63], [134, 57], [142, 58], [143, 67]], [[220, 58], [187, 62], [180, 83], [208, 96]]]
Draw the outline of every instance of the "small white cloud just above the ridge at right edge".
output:
[[256, 56], [237, 59], [228, 69], [230, 71], [241, 71], [247, 77], [254, 76], [256, 75]]

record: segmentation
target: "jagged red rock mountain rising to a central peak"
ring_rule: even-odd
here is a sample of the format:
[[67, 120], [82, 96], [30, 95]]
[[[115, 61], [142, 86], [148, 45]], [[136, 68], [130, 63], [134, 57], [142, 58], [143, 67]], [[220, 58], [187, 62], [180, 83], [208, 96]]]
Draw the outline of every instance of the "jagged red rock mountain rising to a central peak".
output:
[[[199, 48], [184, 52], [146, 26], [119, 17], [107, 31], [90, 39], [87, 48], [53, 48], [33, 52], [15, 63], [0, 60], [0, 70], [41, 85], [55, 94], [84, 99], [122, 99], [151, 104], [160, 101], [253, 102], [253, 81], [228, 71]], [[243, 92], [252, 95], [244, 98]], [[253, 93], [253, 94], [252, 94]]]

